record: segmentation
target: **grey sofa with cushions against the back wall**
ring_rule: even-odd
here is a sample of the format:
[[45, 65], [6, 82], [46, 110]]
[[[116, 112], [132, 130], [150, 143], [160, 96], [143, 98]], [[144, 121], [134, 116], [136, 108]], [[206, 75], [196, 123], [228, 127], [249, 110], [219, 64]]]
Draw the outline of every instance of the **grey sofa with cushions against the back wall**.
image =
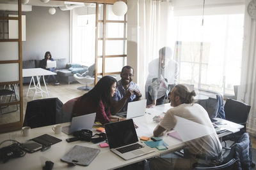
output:
[[[71, 64], [67, 63], [66, 59], [54, 59], [56, 60], [56, 73], [57, 80], [60, 82], [71, 83], [76, 81], [74, 79], [73, 74], [76, 73], [84, 73], [87, 71], [86, 66], [81, 66], [80, 64]], [[30, 68], [39, 68], [41, 60], [24, 60], [22, 61], [22, 69], [30, 69]], [[25, 77], [23, 78], [23, 83], [30, 83], [31, 78]], [[35, 81], [36, 78], [35, 78]], [[41, 80], [42, 81], [42, 78]]]

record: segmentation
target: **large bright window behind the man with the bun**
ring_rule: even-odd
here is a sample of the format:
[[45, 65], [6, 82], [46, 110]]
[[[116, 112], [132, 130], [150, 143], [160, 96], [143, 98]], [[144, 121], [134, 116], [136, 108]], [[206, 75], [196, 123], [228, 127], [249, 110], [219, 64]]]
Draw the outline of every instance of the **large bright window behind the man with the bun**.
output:
[[174, 57], [179, 82], [234, 94], [240, 84], [243, 14], [173, 17]]

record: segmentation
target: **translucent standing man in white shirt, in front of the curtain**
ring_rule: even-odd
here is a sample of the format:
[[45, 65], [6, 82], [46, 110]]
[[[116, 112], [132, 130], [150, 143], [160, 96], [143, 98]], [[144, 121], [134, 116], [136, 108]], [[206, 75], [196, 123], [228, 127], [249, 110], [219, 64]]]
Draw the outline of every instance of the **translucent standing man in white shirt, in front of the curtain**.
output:
[[177, 84], [178, 63], [172, 60], [172, 49], [164, 46], [159, 50], [159, 58], [148, 64], [148, 77], [145, 85], [147, 108], [164, 104], [168, 85]]

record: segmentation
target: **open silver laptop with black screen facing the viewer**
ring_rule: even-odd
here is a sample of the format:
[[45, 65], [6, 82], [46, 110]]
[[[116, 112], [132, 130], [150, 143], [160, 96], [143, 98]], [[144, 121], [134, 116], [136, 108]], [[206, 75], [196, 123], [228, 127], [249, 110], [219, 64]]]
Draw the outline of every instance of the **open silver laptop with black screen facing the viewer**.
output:
[[104, 125], [111, 152], [124, 160], [154, 152], [153, 148], [138, 141], [132, 119]]

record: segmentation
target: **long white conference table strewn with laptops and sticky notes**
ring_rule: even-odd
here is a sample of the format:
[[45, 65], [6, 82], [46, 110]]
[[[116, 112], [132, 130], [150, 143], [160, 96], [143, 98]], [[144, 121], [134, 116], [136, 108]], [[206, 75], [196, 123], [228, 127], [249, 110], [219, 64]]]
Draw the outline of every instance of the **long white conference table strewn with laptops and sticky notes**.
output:
[[[146, 113], [142, 117], [136, 117], [133, 118], [134, 123], [138, 125], [138, 129], [136, 129], [138, 137], [140, 136], [148, 136], [152, 134], [154, 127], [156, 127], [157, 123], [152, 121], [152, 118], [156, 115], [164, 115], [164, 113], [170, 108], [170, 103], [163, 104], [160, 106], [156, 106], [155, 108], [150, 108], [146, 110]], [[176, 117], [177, 118], [177, 129], [176, 131], [180, 131], [179, 128], [183, 128], [186, 131], [188, 131], [188, 125], [193, 124], [193, 122], [189, 122], [189, 120], [186, 120], [184, 118]], [[223, 121], [225, 124], [223, 125], [230, 125], [233, 132], [238, 132], [239, 129], [243, 128], [243, 125], [234, 124], [232, 122], [229, 122], [227, 120], [221, 120], [217, 118], [219, 121]], [[61, 124], [62, 126], [69, 125], [68, 123]], [[185, 126], [184, 126], [185, 125]], [[4, 134], [0, 134], [0, 143], [6, 139], [14, 139], [16, 141], [19, 141], [20, 143], [23, 143], [24, 141], [28, 139], [35, 138], [37, 136], [41, 136], [43, 134], [49, 134], [51, 136], [54, 136], [56, 138], [62, 139], [60, 143], [56, 143], [49, 148], [49, 150], [45, 150], [44, 152], [38, 151], [35, 153], [26, 153], [24, 157], [16, 158], [16, 159], [10, 159], [5, 164], [0, 164], [0, 169], [42, 169], [42, 167], [45, 165], [45, 161], [50, 160], [51, 162], [54, 162], [53, 169], [116, 169], [119, 167], [127, 166], [129, 164], [134, 164], [136, 162], [140, 162], [141, 160], [149, 159], [156, 156], [161, 156], [166, 153], [175, 152], [175, 150], [179, 150], [179, 148], [182, 148], [185, 146], [186, 141], [180, 141], [179, 139], [172, 138], [170, 136], [167, 136], [166, 133], [162, 137], [163, 141], [168, 145], [166, 150], [157, 150], [154, 148], [154, 152], [148, 153], [147, 155], [143, 155], [140, 157], [137, 157], [135, 159], [131, 160], [124, 160], [121, 157], [118, 157], [115, 155], [115, 153], [112, 153], [109, 148], [100, 148], [99, 144], [93, 144], [91, 142], [86, 141], [75, 141], [72, 143], [67, 143], [65, 139], [72, 138], [73, 136], [68, 136], [67, 134], [64, 134], [61, 132], [61, 134], [54, 134], [54, 131], [52, 131], [53, 125], [45, 126], [45, 127], [38, 127], [35, 129], [31, 129], [30, 135], [27, 137], [22, 136], [20, 131], [15, 132], [8, 132]], [[202, 125], [200, 124], [193, 124], [193, 128], [191, 131], [194, 131], [196, 129], [202, 129]], [[206, 127], [207, 129], [207, 127]], [[175, 131], [174, 130], [174, 131]], [[93, 134], [99, 133], [96, 131], [96, 129], [92, 129]], [[207, 133], [207, 132], [206, 132]], [[232, 132], [227, 132], [227, 134], [230, 134]], [[191, 132], [190, 132], [191, 134]], [[227, 135], [225, 134], [225, 135]], [[190, 140], [200, 138], [202, 136], [205, 136], [207, 134], [204, 134], [203, 132], [194, 133], [193, 137], [190, 138]], [[223, 134], [221, 134], [223, 135]], [[141, 141], [143, 142], [143, 141]], [[4, 142], [0, 147], [10, 145], [9, 142]], [[70, 167], [67, 163], [62, 162], [60, 159], [63, 157], [68, 151], [71, 150], [71, 148], [75, 145], [79, 146], [87, 146], [91, 148], [99, 148], [100, 153], [95, 157], [95, 159], [90, 163], [89, 166], [74, 166]]]

